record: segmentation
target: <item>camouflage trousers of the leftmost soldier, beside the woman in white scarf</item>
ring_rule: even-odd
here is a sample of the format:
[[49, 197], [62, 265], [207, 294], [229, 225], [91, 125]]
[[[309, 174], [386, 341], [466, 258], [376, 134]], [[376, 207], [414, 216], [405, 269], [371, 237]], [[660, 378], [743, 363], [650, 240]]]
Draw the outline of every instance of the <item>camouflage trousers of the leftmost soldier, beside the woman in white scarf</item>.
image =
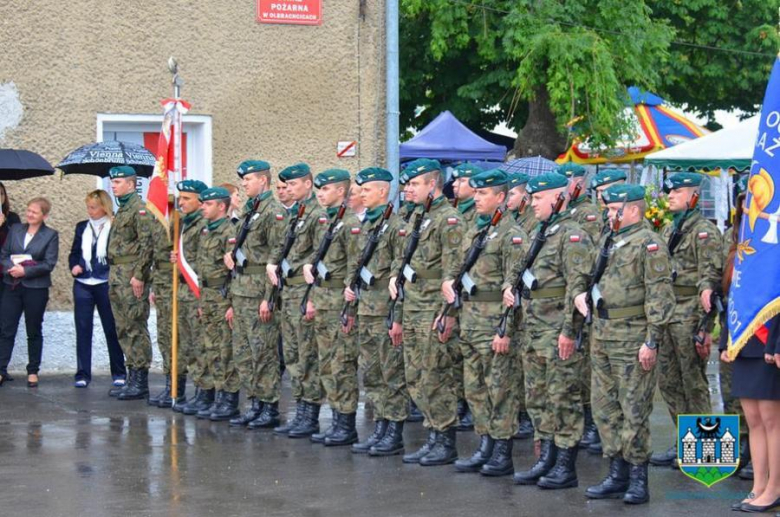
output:
[[[120, 267], [120, 266], [117, 266]], [[117, 279], [121, 281], [121, 277]], [[134, 370], [148, 369], [152, 364], [152, 339], [149, 336], [149, 283], [138, 299], [133, 294], [130, 281], [111, 283], [108, 288], [111, 310], [116, 321], [119, 345], [125, 354], [125, 364]]]

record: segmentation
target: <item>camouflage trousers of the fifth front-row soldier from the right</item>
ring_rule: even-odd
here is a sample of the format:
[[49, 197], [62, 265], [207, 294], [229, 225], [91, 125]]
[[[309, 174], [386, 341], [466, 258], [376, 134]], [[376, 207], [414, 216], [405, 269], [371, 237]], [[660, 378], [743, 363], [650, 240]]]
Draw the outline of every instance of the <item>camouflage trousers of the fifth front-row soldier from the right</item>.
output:
[[374, 420], [401, 422], [409, 416], [404, 349], [393, 346], [382, 316], [360, 316], [358, 326], [363, 389], [374, 405]]

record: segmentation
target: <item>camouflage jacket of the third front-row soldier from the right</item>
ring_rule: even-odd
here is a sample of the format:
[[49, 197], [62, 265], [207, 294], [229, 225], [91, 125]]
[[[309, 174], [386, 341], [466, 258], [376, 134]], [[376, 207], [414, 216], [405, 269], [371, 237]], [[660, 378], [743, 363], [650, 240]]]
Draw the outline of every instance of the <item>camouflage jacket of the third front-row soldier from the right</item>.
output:
[[[479, 233], [477, 223], [472, 223], [461, 246], [465, 259], [469, 248]], [[528, 250], [528, 234], [511, 217], [502, 218], [488, 233], [485, 249], [471, 268], [469, 276], [476, 289], [473, 298], [463, 296], [460, 325], [467, 329], [492, 329], [504, 313], [502, 286], [512, 282], [512, 269]], [[512, 325], [507, 326], [512, 329]]]

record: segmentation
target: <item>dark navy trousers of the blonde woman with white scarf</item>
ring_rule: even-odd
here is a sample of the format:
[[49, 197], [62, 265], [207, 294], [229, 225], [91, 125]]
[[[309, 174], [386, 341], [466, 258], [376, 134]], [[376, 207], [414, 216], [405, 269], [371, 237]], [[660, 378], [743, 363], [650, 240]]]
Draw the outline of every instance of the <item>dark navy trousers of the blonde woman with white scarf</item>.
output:
[[95, 307], [106, 335], [111, 377], [125, 378], [125, 358], [116, 334], [114, 313], [108, 299], [108, 282], [88, 285], [73, 282], [74, 317], [76, 320], [76, 380], [92, 380], [92, 330]]

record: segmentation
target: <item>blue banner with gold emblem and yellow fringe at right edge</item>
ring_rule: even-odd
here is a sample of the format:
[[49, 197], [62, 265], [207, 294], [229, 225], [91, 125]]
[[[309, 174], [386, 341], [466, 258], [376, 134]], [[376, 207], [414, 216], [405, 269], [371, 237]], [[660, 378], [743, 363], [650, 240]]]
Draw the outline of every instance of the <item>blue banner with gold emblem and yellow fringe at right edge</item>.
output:
[[[764, 95], [729, 291], [729, 356], [780, 313], [780, 56]], [[740, 210], [740, 207], [737, 207]]]

